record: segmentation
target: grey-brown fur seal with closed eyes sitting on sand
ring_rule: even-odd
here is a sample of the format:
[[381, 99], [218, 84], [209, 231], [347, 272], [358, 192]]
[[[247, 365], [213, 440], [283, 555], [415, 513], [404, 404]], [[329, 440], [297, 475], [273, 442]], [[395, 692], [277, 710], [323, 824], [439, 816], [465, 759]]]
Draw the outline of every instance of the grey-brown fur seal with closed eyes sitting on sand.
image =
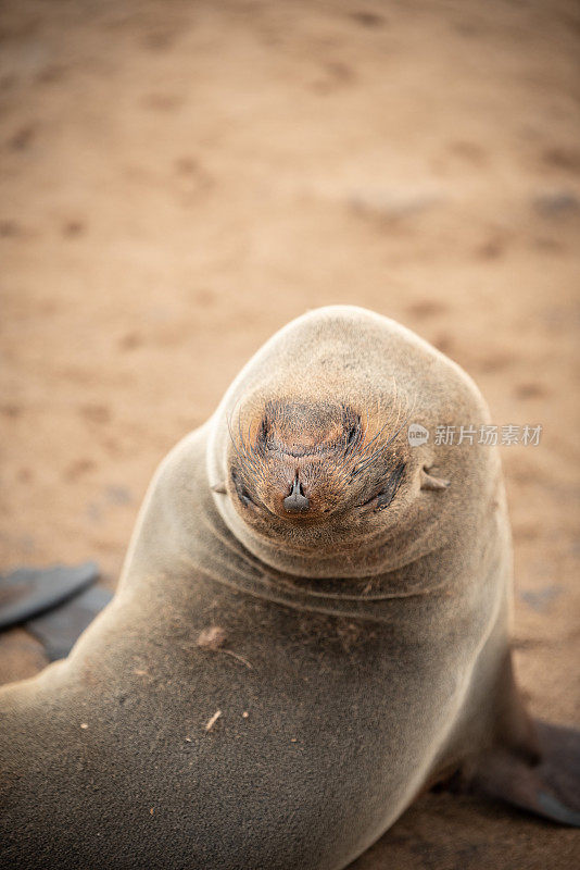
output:
[[113, 601], [0, 693], [2, 867], [340, 870], [452, 774], [577, 823], [577, 737], [513, 679], [496, 451], [407, 438], [488, 423], [378, 314], [267, 341], [161, 464]]

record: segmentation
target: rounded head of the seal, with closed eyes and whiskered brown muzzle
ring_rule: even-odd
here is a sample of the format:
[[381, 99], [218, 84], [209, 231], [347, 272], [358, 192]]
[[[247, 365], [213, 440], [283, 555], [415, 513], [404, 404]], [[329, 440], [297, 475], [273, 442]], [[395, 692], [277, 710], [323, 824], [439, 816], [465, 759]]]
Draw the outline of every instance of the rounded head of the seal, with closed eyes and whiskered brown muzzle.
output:
[[[273, 568], [377, 574], [452, 534], [454, 472], [469, 464], [471, 478], [493, 483], [489, 451], [474, 465], [465, 449], [454, 457], [432, 442], [409, 444], [409, 426], [481, 425], [487, 409], [451, 361], [398, 324], [386, 331], [384, 319], [360, 309], [325, 313], [282, 330], [235, 382], [216, 414], [210, 476], [227, 525]], [[441, 394], [450, 377], [453, 403]]]

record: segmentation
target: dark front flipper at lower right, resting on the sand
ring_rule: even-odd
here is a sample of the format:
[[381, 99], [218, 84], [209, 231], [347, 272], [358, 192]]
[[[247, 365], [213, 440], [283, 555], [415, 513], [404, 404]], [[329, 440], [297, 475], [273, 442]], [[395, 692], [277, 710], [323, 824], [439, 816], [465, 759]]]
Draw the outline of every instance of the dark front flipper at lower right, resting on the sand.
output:
[[465, 790], [580, 828], [580, 731], [539, 720], [533, 724], [539, 758], [497, 746], [478, 759]]

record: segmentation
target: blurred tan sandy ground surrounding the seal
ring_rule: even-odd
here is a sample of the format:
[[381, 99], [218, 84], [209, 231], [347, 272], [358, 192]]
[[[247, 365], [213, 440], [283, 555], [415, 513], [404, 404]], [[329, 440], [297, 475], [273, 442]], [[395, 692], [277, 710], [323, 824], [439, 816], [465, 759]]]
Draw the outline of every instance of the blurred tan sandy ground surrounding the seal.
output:
[[[0, 35], [0, 568], [92, 558], [113, 586], [155, 465], [247, 358], [363, 304], [543, 426], [502, 448], [517, 670], [580, 724], [578, 4], [20, 0]], [[43, 664], [22, 631], [0, 651], [3, 680]], [[579, 852], [432, 794], [355, 866]]]

